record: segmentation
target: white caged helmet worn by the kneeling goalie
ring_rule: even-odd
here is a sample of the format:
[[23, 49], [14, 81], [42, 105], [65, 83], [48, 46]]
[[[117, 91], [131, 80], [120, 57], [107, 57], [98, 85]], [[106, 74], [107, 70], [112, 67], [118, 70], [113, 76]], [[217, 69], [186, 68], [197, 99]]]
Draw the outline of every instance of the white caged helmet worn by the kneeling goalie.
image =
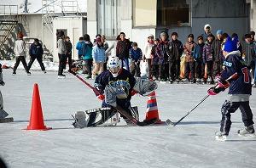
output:
[[122, 67], [122, 61], [118, 57], [110, 57], [108, 59], [107, 68], [113, 77], [117, 77]]

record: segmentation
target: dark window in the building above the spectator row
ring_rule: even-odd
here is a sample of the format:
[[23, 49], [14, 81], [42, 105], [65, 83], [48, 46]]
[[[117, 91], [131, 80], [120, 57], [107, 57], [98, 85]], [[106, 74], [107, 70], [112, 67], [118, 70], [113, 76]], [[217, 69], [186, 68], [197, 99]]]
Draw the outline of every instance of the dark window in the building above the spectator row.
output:
[[191, 0], [157, 0], [158, 26], [190, 26]]

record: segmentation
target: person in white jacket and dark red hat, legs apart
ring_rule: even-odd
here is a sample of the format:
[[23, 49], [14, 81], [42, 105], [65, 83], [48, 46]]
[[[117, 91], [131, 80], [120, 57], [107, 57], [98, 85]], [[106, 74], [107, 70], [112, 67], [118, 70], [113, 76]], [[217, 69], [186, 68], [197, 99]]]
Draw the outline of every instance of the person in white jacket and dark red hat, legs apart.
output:
[[15, 76], [15, 74], [16, 74], [16, 70], [17, 70], [17, 68], [18, 68], [18, 66], [20, 64], [20, 61], [23, 64], [24, 69], [26, 70], [27, 76], [30, 76], [31, 73], [28, 70], [28, 67], [27, 67], [27, 64], [26, 64], [26, 59], [25, 59], [25, 56], [26, 56], [26, 44], [23, 41], [23, 34], [22, 34], [22, 32], [19, 32], [17, 34], [17, 40], [15, 41], [14, 52], [15, 52], [15, 56], [16, 56], [16, 63], [15, 63], [15, 66], [14, 66], [13, 76]]

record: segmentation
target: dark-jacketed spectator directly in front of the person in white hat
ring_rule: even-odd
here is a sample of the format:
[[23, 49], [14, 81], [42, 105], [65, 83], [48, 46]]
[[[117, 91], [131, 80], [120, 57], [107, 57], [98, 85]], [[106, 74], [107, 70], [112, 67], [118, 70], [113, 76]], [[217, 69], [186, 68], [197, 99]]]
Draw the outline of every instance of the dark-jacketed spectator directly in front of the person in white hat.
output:
[[207, 42], [205, 43], [205, 46], [203, 48], [203, 61], [207, 64], [207, 82], [210, 84], [213, 84], [213, 76], [212, 76], [212, 70], [213, 70], [213, 47], [212, 42], [214, 40], [214, 36], [209, 34], [207, 36]]

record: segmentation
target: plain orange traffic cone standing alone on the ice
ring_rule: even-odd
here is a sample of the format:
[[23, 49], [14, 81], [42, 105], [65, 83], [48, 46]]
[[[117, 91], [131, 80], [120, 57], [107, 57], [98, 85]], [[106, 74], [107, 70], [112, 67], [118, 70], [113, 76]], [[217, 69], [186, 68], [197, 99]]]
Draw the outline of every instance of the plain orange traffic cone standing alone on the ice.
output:
[[33, 97], [32, 97], [32, 108], [30, 113], [30, 121], [26, 130], [49, 130], [50, 127], [44, 126], [44, 116], [41, 106], [41, 100], [38, 90], [38, 84], [34, 84]]

